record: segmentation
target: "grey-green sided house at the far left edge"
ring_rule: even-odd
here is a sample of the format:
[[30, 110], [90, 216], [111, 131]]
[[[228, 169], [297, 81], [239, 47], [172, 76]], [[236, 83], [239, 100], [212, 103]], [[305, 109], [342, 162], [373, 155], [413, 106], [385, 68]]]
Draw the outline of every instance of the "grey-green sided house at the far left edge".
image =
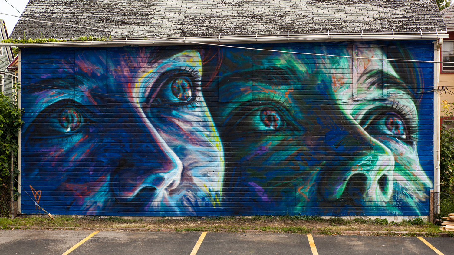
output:
[[[0, 41], [8, 39], [8, 31], [3, 19], [0, 19]], [[6, 67], [13, 60], [13, 49], [9, 46], [0, 46], [0, 92], [6, 96], [13, 94], [13, 75]]]

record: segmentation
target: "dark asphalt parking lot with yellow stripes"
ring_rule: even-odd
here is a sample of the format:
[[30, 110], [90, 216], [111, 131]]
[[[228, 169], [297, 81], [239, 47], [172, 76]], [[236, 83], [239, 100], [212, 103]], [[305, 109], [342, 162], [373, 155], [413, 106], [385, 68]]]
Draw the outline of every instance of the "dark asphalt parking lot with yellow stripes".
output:
[[454, 255], [454, 238], [266, 232], [1, 230], [1, 255]]

